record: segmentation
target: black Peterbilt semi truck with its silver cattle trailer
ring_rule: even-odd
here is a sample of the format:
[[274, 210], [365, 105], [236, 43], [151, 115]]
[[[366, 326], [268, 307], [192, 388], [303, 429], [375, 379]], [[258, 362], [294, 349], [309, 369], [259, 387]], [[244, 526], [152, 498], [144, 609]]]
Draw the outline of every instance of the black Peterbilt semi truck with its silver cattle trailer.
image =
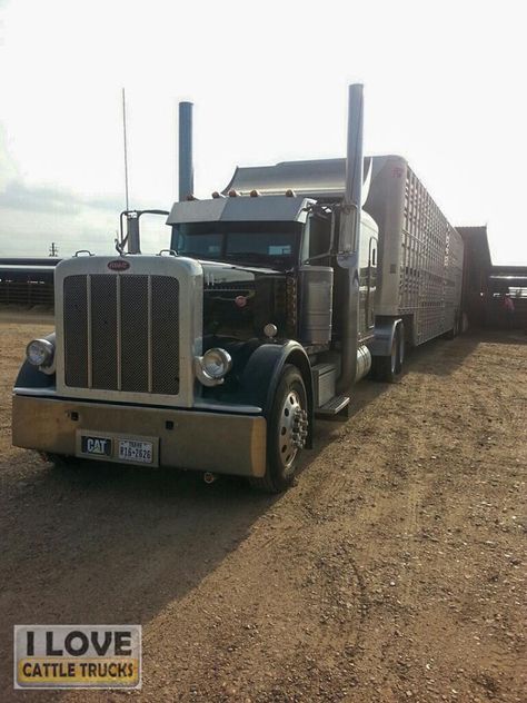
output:
[[461, 238], [404, 158], [364, 156], [362, 113], [350, 86], [346, 158], [237, 168], [197, 199], [181, 103], [170, 246], [141, 254], [142, 212], [127, 211], [117, 256], [57, 266], [56, 331], [27, 347], [13, 444], [279, 493], [316, 418], [457, 334]]

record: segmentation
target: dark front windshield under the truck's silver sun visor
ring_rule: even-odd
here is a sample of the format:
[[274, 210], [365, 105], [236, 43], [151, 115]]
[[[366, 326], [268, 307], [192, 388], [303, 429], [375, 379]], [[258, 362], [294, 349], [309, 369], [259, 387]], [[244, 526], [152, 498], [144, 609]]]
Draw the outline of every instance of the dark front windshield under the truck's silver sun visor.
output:
[[172, 249], [181, 256], [220, 261], [291, 267], [300, 227], [298, 222], [219, 222], [175, 228]]

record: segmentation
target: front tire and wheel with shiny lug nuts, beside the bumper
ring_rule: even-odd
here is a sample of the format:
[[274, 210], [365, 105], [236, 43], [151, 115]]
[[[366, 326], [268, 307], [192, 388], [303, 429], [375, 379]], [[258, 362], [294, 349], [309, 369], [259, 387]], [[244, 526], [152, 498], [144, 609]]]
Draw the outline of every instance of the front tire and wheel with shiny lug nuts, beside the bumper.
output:
[[307, 394], [300, 372], [286, 364], [268, 417], [267, 467], [261, 478], [251, 478], [264, 493], [282, 493], [296, 478], [298, 458], [307, 435]]

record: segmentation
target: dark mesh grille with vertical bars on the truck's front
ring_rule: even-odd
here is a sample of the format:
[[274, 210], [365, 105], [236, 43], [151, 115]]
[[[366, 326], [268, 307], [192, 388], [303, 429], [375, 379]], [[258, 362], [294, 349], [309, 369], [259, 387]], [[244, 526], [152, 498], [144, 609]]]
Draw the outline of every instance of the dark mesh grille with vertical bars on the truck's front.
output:
[[178, 395], [176, 278], [68, 276], [63, 300], [67, 386]]

